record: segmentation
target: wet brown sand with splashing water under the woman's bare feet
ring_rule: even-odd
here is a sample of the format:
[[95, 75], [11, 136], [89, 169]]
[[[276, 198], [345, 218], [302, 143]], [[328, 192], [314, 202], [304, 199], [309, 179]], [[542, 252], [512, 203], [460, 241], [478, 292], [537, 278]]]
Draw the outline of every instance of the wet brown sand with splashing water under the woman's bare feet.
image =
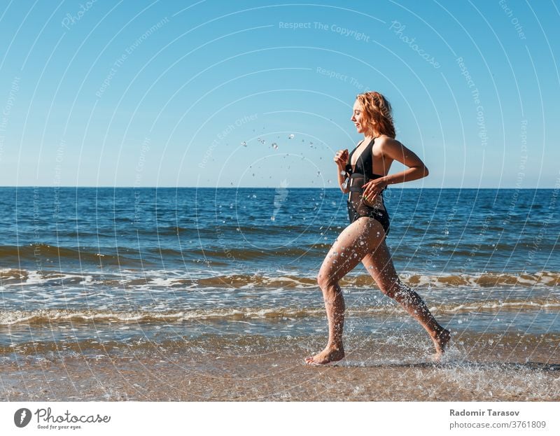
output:
[[[414, 339], [414, 338], [412, 338]], [[555, 342], [493, 342], [458, 336], [444, 363], [429, 349], [349, 344], [323, 367], [303, 358], [320, 339], [262, 344], [244, 337], [227, 350], [204, 341], [82, 349], [0, 360], [3, 401], [559, 401]], [[422, 341], [423, 337], [419, 337]], [[461, 344], [462, 343], [462, 344]], [[245, 346], [244, 344], [253, 344]], [[260, 344], [256, 347], [255, 344]], [[260, 350], [255, 353], [256, 350]], [[245, 353], [240, 351], [246, 350]], [[314, 349], [318, 351], [318, 349]], [[554, 360], [555, 359], [555, 360]]]

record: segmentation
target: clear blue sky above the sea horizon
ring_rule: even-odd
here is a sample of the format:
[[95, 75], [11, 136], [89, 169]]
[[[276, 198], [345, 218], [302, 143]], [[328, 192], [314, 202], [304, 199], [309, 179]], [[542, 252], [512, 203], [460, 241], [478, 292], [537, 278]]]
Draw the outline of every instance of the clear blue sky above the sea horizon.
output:
[[365, 90], [407, 187], [560, 185], [557, 1], [320, 3], [1, 0], [0, 185], [335, 187]]

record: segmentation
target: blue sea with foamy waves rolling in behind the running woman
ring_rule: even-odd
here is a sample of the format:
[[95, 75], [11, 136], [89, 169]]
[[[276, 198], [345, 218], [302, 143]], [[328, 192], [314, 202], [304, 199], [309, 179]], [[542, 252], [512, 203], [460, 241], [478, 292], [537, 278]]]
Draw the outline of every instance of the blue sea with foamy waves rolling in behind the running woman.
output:
[[[395, 268], [458, 335], [556, 340], [557, 195], [389, 188]], [[325, 335], [316, 275], [349, 223], [339, 190], [0, 188], [0, 205], [5, 356]], [[340, 284], [349, 337], [418, 330], [361, 264]]]

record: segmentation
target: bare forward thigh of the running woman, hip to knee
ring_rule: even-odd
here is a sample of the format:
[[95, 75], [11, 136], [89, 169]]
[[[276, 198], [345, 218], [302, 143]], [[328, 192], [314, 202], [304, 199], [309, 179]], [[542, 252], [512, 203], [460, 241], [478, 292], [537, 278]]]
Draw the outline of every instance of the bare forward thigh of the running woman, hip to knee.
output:
[[384, 240], [381, 224], [373, 218], [358, 218], [339, 234], [323, 260], [319, 281], [336, 283], [350, 272], [367, 253]]

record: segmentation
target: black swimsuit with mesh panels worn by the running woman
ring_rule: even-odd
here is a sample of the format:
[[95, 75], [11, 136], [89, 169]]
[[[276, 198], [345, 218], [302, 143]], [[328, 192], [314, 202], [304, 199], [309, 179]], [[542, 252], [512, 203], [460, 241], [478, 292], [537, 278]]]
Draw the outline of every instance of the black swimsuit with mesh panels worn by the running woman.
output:
[[[363, 202], [362, 194], [363, 188], [362, 185], [365, 185], [370, 180], [374, 180], [375, 178], [383, 177], [379, 174], [373, 174], [372, 167], [373, 167], [373, 153], [372, 148], [375, 142], [375, 138], [372, 139], [370, 144], [363, 150], [362, 154], [358, 157], [356, 161], [356, 169], [352, 171], [351, 163], [346, 165], [346, 174], [349, 175], [348, 185], [350, 191], [350, 198], [346, 202], [348, 206], [348, 217], [350, 218], [350, 222], [353, 223], [358, 218], [362, 218], [366, 216], [368, 218], [374, 218], [374, 220], [379, 221], [385, 230], [385, 234], [389, 233], [389, 215], [385, 208], [385, 203], [383, 202], [383, 192], [381, 195], [381, 203], [383, 204], [383, 209], [379, 209], [377, 207], [368, 206]], [[352, 155], [356, 151], [356, 149], [361, 145], [361, 143], [356, 146], [350, 153], [348, 157], [348, 162], [352, 162]]]

